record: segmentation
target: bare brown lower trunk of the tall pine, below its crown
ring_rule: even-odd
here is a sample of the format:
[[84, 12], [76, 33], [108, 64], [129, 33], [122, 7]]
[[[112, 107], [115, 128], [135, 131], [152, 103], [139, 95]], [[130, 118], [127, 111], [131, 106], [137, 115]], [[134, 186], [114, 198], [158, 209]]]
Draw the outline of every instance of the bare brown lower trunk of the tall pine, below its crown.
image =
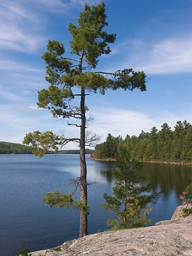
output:
[[[80, 135], [80, 166], [81, 166], [81, 202], [87, 205], [87, 166], [85, 162], [85, 89], [81, 89], [81, 135]], [[79, 237], [87, 235], [87, 214], [81, 209]]]

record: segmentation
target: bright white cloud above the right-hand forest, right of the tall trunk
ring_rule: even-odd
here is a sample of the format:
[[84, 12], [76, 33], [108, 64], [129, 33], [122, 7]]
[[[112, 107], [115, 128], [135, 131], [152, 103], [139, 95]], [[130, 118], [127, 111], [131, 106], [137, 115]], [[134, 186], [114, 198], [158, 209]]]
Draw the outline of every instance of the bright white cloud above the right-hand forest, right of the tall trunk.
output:
[[122, 137], [126, 137], [126, 134], [138, 136], [141, 130], [148, 132], [153, 126], [160, 130], [161, 125], [165, 122], [173, 128], [178, 120], [192, 119], [191, 114], [183, 114], [182, 117], [178, 117], [166, 110], [160, 110], [160, 112], [161, 114], [154, 117], [150, 113], [145, 114], [125, 109], [93, 110], [94, 122], [90, 128], [102, 135], [102, 140], [105, 140], [108, 133], [114, 136], [122, 135]]

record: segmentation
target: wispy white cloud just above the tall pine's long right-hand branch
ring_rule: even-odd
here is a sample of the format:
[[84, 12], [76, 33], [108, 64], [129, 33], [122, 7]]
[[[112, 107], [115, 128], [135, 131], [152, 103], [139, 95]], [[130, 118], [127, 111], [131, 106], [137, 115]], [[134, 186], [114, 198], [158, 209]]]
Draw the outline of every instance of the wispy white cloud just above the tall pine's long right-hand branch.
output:
[[192, 72], [192, 36], [168, 38], [158, 42], [126, 40], [114, 48], [114, 53], [124, 53], [116, 69], [133, 67], [150, 74], [176, 74]]

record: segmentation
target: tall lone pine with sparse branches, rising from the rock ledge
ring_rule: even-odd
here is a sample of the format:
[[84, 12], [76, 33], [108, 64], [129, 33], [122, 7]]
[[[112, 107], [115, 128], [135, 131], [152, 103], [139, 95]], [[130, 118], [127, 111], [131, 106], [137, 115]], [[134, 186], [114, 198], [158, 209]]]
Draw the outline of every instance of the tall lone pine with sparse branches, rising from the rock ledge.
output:
[[[55, 207], [78, 207], [80, 209], [80, 237], [87, 235], [87, 167], [85, 162], [85, 145], [91, 145], [92, 138], [85, 134], [87, 123], [85, 105], [86, 92], [99, 92], [105, 94], [107, 89], [133, 90], [138, 88], [145, 91], [145, 73], [134, 72], [131, 68], [117, 70], [115, 73], [94, 72], [98, 58], [103, 54], [110, 53], [109, 43], [114, 43], [116, 34], [108, 34], [104, 28], [108, 25], [106, 21], [105, 5], [98, 4], [89, 6], [81, 12], [78, 25], [69, 23], [69, 32], [72, 40], [69, 42], [72, 57], [66, 58], [62, 43], [50, 41], [47, 52], [43, 54], [43, 60], [47, 64], [46, 80], [50, 83], [48, 89], [38, 92], [38, 107], [49, 109], [53, 117], [73, 118], [75, 124], [80, 128], [80, 138], [66, 138], [58, 136], [53, 132], [30, 132], [24, 138], [24, 143], [31, 144], [35, 150], [34, 154], [43, 156], [47, 150], [57, 150], [59, 146], [73, 141], [79, 143], [81, 174], [77, 185], [80, 184], [80, 202], [73, 199], [75, 191], [68, 195], [62, 192], [48, 193], [45, 197], [47, 205]], [[73, 88], [79, 90], [74, 94]], [[80, 96], [80, 103], [74, 106], [72, 100]], [[79, 121], [79, 122], [78, 122]]]

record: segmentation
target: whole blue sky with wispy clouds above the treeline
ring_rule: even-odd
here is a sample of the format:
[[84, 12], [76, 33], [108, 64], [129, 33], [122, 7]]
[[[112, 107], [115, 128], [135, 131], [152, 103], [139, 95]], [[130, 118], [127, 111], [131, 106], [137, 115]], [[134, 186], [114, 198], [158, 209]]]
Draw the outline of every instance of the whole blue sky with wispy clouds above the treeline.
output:
[[[41, 55], [48, 39], [58, 40], [70, 55], [68, 23], [77, 23], [83, 6], [98, 0], [0, 1], [0, 141], [21, 143], [33, 130], [62, 130], [78, 136], [66, 121], [38, 109], [37, 91], [48, 87]], [[138, 135], [167, 122], [192, 122], [191, 0], [105, 0], [108, 32], [117, 33], [111, 54], [98, 71], [123, 68], [145, 71], [147, 91], [107, 91], [87, 96], [89, 130], [105, 139]], [[77, 99], [78, 100], [78, 99]], [[68, 145], [66, 148], [75, 148]]]

